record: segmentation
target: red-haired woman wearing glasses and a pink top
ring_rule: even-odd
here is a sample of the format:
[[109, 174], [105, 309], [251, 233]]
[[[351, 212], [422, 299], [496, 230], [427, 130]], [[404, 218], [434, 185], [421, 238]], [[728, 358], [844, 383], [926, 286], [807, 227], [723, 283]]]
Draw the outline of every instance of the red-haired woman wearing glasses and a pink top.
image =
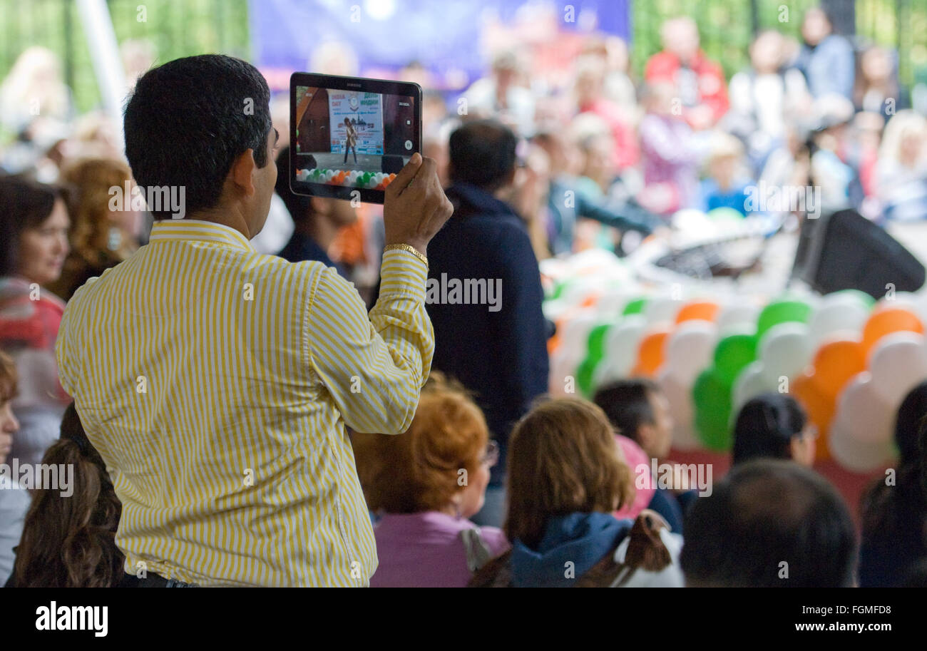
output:
[[479, 407], [437, 375], [404, 434], [354, 435], [364, 495], [379, 517], [371, 587], [464, 587], [509, 548], [501, 530], [468, 519], [483, 506], [499, 449]]

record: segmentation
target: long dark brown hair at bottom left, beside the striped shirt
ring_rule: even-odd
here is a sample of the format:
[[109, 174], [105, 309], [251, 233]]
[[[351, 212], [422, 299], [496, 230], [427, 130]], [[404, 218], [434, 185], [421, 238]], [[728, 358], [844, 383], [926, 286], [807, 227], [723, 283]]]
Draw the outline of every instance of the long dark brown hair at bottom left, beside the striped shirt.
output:
[[69, 469], [71, 494], [61, 494], [64, 479], [60, 477], [57, 488], [32, 492], [16, 553], [17, 586], [117, 585], [124, 561], [114, 541], [121, 504], [73, 403], [61, 421], [61, 438], [45, 451], [42, 463]]

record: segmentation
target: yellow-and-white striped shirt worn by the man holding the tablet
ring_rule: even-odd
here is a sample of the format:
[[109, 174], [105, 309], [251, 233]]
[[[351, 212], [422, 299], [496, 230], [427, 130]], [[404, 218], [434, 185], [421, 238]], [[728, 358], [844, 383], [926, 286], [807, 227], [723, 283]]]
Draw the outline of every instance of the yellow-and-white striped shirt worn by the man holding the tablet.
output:
[[70, 300], [61, 384], [108, 466], [126, 570], [201, 585], [367, 585], [376, 545], [345, 424], [405, 431], [431, 366], [425, 263], [380, 298], [227, 226], [157, 222]]

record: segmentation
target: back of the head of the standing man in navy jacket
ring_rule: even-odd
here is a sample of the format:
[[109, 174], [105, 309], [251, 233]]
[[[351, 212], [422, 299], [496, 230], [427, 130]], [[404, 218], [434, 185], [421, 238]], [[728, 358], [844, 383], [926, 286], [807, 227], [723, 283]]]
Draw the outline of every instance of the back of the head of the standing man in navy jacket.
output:
[[451, 181], [488, 192], [509, 185], [514, 178], [517, 144], [514, 132], [500, 121], [464, 122], [451, 134]]

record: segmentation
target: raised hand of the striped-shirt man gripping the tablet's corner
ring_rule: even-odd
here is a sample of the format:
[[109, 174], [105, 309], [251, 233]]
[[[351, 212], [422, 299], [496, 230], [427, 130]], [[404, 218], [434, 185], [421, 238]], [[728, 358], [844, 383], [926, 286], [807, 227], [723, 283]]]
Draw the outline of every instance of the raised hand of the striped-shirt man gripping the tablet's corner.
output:
[[387, 244], [408, 244], [426, 254], [428, 242], [451, 217], [453, 206], [438, 181], [438, 163], [418, 152], [387, 185], [383, 223]]

